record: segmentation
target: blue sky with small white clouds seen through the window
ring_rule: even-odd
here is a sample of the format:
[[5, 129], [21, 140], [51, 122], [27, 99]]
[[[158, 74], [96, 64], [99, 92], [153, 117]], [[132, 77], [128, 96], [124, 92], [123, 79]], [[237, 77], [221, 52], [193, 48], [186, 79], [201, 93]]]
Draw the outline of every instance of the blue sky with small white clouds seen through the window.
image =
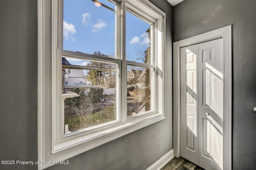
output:
[[[115, 5], [107, 0], [100, 2], [115, 9]], [[126, 54], [130, 60], [133, 60], [136, 48], [146, 49], [149, 46], [146, 34], [149, 27], [150, 24], [126, 12]], [[100, 51], [114, 57], [115, 12], [103, 6], [95, 6], [91, 0], [64, 0], [63, 49], [87, 54]], [[86, 64], [82, 60], [69, 62]]]

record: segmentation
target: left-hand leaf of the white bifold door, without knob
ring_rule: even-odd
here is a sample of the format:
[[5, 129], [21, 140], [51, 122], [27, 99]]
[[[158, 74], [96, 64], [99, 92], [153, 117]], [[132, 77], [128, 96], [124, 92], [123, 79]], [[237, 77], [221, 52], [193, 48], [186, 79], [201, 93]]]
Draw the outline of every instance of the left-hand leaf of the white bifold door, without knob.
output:
[[180, 155], [198, 164], [198, 44], [180, 49]]

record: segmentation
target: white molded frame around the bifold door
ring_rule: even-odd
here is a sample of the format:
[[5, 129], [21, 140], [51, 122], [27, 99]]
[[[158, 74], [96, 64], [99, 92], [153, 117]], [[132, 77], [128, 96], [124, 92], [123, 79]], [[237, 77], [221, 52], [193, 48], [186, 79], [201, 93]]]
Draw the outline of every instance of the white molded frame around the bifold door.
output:
[[174, 156], [180, 157], [180, 48], [216, 38], [224, 41], [224, 160], [223, 169], [232, 169], [232, 41], [231, 25], [173, 43], [174, 49]]

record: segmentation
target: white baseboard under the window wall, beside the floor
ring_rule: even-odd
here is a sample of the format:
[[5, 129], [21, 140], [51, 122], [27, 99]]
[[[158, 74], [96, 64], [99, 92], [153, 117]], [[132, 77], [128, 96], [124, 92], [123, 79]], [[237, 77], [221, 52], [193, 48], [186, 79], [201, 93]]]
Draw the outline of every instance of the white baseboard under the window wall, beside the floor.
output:
[[148, 167], [146, 170], [160, 170], [164, 167], [172, 158], [174, 158], [173, 149], [164, 154], [159, 160]]

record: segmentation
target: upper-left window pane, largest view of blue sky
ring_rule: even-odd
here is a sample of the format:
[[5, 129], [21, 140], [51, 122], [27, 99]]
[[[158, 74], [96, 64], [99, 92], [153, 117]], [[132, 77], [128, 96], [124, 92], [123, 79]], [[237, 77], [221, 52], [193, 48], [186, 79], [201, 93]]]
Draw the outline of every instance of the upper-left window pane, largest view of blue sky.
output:
[[114, 57], [115, 10], [107, 0], [64, 0], [63, 49]]

